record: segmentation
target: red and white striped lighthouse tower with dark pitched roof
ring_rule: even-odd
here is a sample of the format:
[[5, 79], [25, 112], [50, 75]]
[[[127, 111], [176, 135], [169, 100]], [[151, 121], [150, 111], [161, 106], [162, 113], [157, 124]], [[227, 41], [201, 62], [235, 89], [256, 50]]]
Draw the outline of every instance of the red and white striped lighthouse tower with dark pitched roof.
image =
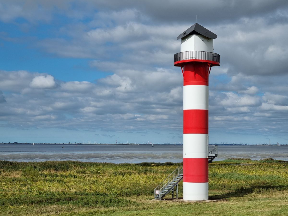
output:
[[183, 73], [183, 199], [208, 200], [208, 79], [220, 65], [217, 35], [195, 23], [180, 34], [174, 66]]

